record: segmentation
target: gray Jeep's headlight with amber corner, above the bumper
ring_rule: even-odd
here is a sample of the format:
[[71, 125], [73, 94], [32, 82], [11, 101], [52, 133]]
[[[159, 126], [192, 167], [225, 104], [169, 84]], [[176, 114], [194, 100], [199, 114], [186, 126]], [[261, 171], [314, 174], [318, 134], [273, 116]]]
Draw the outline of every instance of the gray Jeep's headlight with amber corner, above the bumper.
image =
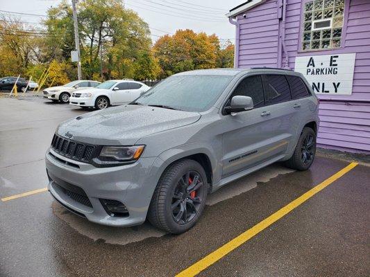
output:
[[135, 162], [144, 152], [144, 145], [135, 146], [103, 146], [96, 163], [101, 165], [119, 165]]

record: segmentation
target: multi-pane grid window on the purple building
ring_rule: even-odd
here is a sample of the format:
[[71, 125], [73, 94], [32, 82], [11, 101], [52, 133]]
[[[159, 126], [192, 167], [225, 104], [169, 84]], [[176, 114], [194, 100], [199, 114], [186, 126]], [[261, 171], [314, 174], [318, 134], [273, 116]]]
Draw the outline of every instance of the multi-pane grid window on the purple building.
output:
[[344, 0], [311, 0], [303, 6], [302, 49], [340, 47]]

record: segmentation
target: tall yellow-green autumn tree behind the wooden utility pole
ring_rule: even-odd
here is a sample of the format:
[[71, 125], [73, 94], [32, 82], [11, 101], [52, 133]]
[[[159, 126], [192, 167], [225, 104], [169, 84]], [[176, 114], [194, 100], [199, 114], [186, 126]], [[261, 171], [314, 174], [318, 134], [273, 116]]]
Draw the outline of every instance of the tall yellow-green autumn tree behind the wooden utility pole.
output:
[[[56, 37], [50, 43], [60, 45], [53, 55], [70, 60], [74, 49], [71, 8], [64, 0], [49, 9], [48, 16], [49, 39]], [[119, 0], [85, 0], [78, 2], [77, 17], [85, 78], [99, 71], [106, 79], [133, 77], [133, 61], [141, 49], [151, 47], [148, 25], [137, 13], [124, 9]]]

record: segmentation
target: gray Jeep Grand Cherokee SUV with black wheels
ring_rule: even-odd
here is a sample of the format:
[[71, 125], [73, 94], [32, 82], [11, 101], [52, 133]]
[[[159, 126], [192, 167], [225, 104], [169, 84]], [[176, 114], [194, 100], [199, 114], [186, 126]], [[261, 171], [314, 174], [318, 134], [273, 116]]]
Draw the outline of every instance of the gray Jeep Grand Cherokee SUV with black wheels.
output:
[[172, 75], [129, 105], [59, 125], [47, 150], [51, 195], [112, 226], [190, 229], [208, 193], [285, 161], [307, 170], [318, 100], [300, 73], [210, 69]]

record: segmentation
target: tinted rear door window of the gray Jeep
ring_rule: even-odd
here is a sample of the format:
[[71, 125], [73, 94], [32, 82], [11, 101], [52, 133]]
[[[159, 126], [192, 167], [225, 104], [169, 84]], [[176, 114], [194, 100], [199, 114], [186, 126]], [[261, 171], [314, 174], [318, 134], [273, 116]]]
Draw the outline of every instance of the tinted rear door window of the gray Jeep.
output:
[[284, 75], [264, 75], [264, 98], [266, 105], [291, 100], [289, 84]]

